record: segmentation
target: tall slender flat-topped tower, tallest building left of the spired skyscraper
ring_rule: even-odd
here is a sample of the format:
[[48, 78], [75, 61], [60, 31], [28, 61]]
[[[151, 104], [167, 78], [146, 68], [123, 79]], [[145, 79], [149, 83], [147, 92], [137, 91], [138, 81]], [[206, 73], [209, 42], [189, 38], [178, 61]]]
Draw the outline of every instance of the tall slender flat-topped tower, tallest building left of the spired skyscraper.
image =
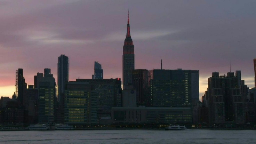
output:
[[58, 57], [58, 102], [64, 102], [65, 83], [69, 81], [69, 57], [61, 55]]

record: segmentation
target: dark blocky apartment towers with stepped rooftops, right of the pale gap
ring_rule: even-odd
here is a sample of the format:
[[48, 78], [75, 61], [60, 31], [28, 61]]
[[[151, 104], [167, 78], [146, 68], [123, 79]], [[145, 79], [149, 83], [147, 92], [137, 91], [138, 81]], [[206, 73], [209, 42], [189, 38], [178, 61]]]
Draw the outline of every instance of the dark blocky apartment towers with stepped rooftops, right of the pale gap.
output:
[[[213, 72], [208, 78], [206, 99], [209, 110], [209, 123], [245, 123], [245, 96], [247, 88], [239, 82], [241, 75], [219, 76]], [[241, 87], [239, 87], [241, 83]], [[247, 97], [247, 96], [246, 96]]]

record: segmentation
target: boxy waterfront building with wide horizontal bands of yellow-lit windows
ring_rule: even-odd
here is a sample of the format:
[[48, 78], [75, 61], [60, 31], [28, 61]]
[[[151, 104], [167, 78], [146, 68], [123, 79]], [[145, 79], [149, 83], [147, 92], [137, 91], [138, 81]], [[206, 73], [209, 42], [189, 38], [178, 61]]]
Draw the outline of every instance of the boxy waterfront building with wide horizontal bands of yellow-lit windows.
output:
[[65, 90], [64, 122], [69, 125], [97, 124], [97, 95], [88, 82], [70, 81]]

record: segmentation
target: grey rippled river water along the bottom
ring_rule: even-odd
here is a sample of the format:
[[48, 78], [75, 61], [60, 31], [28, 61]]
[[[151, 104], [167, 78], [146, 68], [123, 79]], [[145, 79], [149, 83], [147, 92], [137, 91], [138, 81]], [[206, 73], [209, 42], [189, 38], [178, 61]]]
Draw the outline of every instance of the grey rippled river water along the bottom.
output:
[[255, 144], [256, 130], [0, 131], [0, 144]]

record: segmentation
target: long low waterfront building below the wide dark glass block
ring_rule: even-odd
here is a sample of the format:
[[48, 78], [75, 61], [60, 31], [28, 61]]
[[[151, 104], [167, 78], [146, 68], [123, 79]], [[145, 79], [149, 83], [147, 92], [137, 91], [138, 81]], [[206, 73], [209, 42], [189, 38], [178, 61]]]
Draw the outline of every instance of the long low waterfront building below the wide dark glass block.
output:
[[191, 107], [113, 107], [113, 124], [189, 124]]

